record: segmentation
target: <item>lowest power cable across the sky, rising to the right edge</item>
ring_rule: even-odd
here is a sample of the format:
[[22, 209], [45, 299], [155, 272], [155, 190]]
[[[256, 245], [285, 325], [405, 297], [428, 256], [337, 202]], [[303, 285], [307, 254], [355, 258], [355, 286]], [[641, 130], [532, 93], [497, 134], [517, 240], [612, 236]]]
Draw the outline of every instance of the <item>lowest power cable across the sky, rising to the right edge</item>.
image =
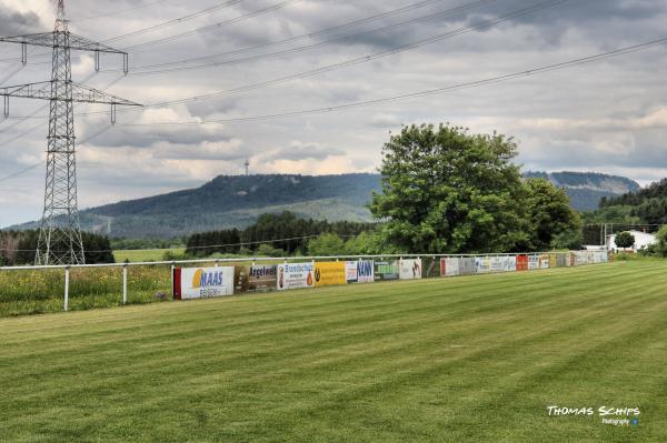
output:
[[125, 123], [125, 124], [120, 124], [120, 125], [121, 127], [150, 127], [150, 125], [220, 124], [220, 123], [235, 123], [235, 122], [247, 122], [247, 121], [257, 121], [257, 120], [273, 120], [273, 119], [288, 118], [288, 117], [298, 117], [298, 115], [331, 112], [331, 111], [338, 111], [338, 110], [345, 110], [345, 109], [360, 108], [360, 107], [366, 107], [366, 105], [370, 105], [370, 104], [386, 103], [386, 102], [390, 102], [390, 101], [398, 101], [398, 100], [414, 99], [414, 98], [426, 97], [426, 95], [440, 94], [440, 93], [454, 91], [454, 90], [476, 88], [476, 87], [481, 87], [481, 85], [487, 85], [487, 84], [499, 83], [499, 82], [514, 80], [514, 79], [518, 79], [518, 78], [530, 77], [530, 75], [545, 73], [545, 72], [549, 72], [549, 71], [556, 71], [556, 70], [571, 68], [571, 67], [576, 67], [576, 66], [580, 66], [580, 64], [593, 63], [595, 61], [599, 61], [599, 60], [604, 60], [604, 59], [608, 59], [608, 58], [613, 58], [613, 57], [619, 57], [619, 56], [624, 56], [627, 53], [638, 52], [638, 51], [646, 50], [646, 49], [657, 47], [660, 44], [665, 44], [665, 43], [667, 43], [667, 38], [653, 40], [653, 41], [649, 41], [646, 43], [635, 44], [631, 47], [626, 47], [626, 48], [621, 48], [621, 49], [617, 49], [617, 50], [613, 50], [613, 51], [600, 52], [595, 56], [583, 57], [583, 58], [578, 58], [578, 59], [565, 61], [565, 62], [559, 62], [559, 63], [554, 63], [554, 64], [547, 64], [547, 66], [542, 66], [542, 67], [538, 67], [538, 68], [534, 68], [534, 69], [529, 69], [529, 70], [525, 70], [525, 71], [491, 77], [491, 78], [487, 78], [487, 79], [482, 79], [482, 80], [469, 81], [469, 82], [452, 84], [449, 87], [430, 89], [430, 90], [426, 90], [426, 91], [418, 91], [418, 92], [411, 92], [411, 93], [406, 93], [406, 94], [385, 97], [385, 98], [374, 99], [374, 100], [357, 101], [354, 103], [339, 104], [339, 105], [332, 105], [332, 107], [316, 108], [316, 109], [309, 109], [309, 110], [302, 110], [302, 111], [282, 112], [282, 113], [275, 113], [275, 114], [243, 117], [243, 118], [237, 118], [237, 119], [219, 119], [219, 120], [208, 120], [208, 121], [205, 120], [205, 121], [191, 121], [191, 122], [163, 122], [163, 123], [160, 123], [160, 122], [157, 122], [157, 123]]

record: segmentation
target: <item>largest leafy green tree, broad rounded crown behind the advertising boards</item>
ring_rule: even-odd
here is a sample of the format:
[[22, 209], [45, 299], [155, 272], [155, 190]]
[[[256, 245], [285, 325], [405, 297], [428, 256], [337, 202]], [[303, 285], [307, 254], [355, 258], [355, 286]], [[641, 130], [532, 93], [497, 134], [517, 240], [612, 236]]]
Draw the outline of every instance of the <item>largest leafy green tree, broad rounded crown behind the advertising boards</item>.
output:
[[449, 124], [410, 125], [382, 149], [382, 192], [370, 210], [405, 252], [501, 252], [530, 248], [527, 188], [501, 134]]

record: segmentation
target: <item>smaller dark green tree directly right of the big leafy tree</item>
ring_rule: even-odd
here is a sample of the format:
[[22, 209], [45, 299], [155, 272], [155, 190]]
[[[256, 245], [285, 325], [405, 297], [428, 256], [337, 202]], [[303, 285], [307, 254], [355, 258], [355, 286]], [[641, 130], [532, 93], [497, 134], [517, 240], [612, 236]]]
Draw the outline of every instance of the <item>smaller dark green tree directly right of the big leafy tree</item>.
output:
[[545, 179], [528, 179], [526, 188], [531, 248], [542, 251], [550, 248], [578, 249], [581, 245], [581, 220], [570, 208], [565, 189], [556, 188]]

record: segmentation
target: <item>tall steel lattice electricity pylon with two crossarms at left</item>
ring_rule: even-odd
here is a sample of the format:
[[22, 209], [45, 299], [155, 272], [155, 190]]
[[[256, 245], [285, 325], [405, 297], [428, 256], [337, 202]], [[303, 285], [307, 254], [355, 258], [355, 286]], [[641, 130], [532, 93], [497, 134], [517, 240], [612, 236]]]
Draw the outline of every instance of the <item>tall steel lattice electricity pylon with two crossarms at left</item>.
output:
[[83, 241], [77, 202], [77, 160], [74, 149], [74, 102], [111, 105], [111, 123], [116, 123], [117, 105], [140, 105], [103, 91], [72, 82], [70, 51], [94, 54], [94, 69], [100, 69], [100, 53], [122, 56], [128, 73], [127, 52], [70, 33], [64, 14], [64, 0], [58, 0], [53, 32], [0, 38], [0, 42], [21, 44], [21, 62], [28, 62], [28, 46], [52, 48], [51, 81], [0, 87], [4, 97], [4, 117], [9, 115], [9, 98], [49, 100], [49, 137], [44, 210], [39, 229], [36, 264], [84, 264]]

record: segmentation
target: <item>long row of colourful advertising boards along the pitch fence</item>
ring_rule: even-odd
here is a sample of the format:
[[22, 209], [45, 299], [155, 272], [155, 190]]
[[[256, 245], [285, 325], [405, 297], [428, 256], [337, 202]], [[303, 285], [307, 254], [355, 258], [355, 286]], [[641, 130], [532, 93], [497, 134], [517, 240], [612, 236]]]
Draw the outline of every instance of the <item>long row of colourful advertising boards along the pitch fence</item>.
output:
[[247, 292], [286, 291], [327, 285], [416, 280], [436, 276], [488, 274], [605, 263], [605, 251], [550, 254], [355, 260], [252, 264], [217, 268], [176, 268], [177, 300], [232, 295]]

